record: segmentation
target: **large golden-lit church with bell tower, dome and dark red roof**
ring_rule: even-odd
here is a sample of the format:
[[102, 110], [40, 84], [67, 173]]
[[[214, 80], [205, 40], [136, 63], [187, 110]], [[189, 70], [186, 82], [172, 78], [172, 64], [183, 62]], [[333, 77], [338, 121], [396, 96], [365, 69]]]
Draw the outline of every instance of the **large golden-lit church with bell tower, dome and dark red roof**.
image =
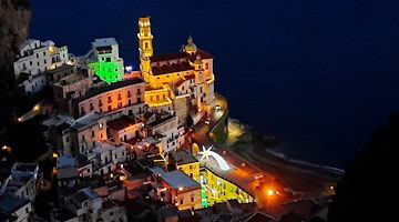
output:
[[214, 108], [213, 57], [190, 37], [181, 52], [153, 54], [150, 17], [139, 19], [140, 68], [146, 83], [145, 103], [168, 111], [185, 124], [187, 113], [204, 115]]

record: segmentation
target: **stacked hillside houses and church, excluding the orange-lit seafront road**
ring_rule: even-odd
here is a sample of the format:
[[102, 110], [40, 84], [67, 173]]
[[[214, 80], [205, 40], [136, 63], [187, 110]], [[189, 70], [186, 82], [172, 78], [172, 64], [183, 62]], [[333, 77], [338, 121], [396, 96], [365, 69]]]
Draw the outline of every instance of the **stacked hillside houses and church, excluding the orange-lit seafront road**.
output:
[[[253, 195], [201, 165], [191, 149], [190, 127], [215, 109], [213, 57], [192, 37], [180, 52], [154, 54], [150, 17], [140, 18], [137, 39], [140, 71], [124, 68], [113, 38], [95, 39], [81, 57], [52, 41], [30, 39], [20, 48], [21, 89], [52, 92], [42, 121], [59, 203], [50, 221], [259, 216]], [[16, 163], [4, 175], [0, 216], [29, 221], [45, 186], [38, 164]]]

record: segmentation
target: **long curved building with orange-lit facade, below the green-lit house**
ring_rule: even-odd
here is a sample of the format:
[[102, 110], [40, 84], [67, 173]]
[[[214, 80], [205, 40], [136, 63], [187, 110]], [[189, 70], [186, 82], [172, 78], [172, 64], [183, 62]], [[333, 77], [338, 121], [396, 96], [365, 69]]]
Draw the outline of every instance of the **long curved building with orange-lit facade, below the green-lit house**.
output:
[[92, 89], [84, 95], [73, 99], [70, 114], [82, 117], [89, 112], [110, 113], [121, 111], [126, 115], [144, 112], [144, 82], [131, 79]]

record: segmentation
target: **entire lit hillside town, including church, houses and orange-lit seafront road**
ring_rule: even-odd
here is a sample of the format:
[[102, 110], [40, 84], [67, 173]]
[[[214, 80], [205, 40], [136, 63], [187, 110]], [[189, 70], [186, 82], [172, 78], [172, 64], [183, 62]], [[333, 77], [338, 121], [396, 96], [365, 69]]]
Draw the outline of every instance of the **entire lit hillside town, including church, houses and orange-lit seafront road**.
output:
[[156, 54], [150, 17], [139, 18], [140, 70], [115, 38], [94, 39], [83, 56], [27, 39], [13, 63], [19, 87], [49, 93], [17, 121], [44, 117], [47, 148], [10, 162], [1, 144], [0, 221], [327, 221], [334, 183], [323, 195], [296, 191], [228, 150], [245, 127], [215, 91], [214, 57], [187, 36]]

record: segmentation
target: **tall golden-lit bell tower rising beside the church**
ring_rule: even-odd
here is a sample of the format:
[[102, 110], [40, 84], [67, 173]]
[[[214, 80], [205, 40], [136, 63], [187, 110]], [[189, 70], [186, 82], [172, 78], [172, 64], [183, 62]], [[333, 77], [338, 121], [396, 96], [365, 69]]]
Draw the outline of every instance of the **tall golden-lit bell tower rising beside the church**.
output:
[[151, 33], [150, 17], [139, 18], [139, 52], [140, 52], [140, 69], [143, 73], [144, 81], [150, 81], [151, 67], [150, 57], [153, 56], [153, 36]]

